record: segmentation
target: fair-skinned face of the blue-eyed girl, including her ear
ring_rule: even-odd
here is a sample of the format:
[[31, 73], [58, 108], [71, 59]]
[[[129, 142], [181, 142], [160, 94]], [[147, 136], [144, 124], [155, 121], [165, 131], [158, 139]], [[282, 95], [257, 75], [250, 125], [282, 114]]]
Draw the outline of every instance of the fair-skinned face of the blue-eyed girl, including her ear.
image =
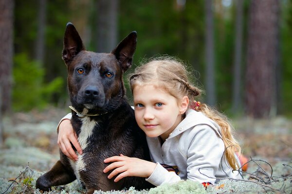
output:
[[148, 137], [160, 136], [163, 140], [183, 120], [188, 97], [179, 102], [165, 90], [153, 85], [136, 86], [133, 89], [135, 118]]

